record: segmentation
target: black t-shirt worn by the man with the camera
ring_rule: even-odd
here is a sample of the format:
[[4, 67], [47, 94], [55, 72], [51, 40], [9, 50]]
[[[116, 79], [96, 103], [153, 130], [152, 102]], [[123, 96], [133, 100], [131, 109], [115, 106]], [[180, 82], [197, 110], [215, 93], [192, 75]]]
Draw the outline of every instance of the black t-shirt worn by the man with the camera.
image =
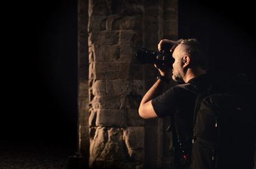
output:
[[[179, 136], [184, 143], [186, 154], [191, 153], [191, 138], [193, 135], [193, 114], [195, 109], [196, 93], [206, 92], [210, 85], [214, 83], [214, 78], [205, 73], [198, 77], [192, 78], [186, 84], [175, 85], [166, 92], [152, 99], [152, 106], [158, 117], [171, 116], [175, 121], [175, 127], [179, 131]], [[177, 137], [175, 137], [177, 138]], [[180, 156], [179, 148], [177, 148], [177, 140], [174, 141], [175, 156]], [[179, 147], [179, 146], [178, 146]], [[177, 159], [176, 159], [177, 160]], [[179, 162], [175, 162], [179, 163]], [[177, 164], [176, 164], [177, 165]], [[177, 166], [176, 168], [182, 168]], [[186, 167], [185, 167], [186, 168]]]

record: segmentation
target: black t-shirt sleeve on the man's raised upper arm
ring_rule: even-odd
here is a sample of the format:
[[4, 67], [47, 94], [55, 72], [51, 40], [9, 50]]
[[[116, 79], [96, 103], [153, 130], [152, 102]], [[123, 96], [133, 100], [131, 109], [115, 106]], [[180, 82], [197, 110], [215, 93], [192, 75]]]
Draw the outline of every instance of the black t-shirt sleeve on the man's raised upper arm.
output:
[[175, 103], [175, 92], [173, 89], [174, 87], [152, 99], [152, 106], [158, 117], [164, 117], [175, 113], [177, 105]]

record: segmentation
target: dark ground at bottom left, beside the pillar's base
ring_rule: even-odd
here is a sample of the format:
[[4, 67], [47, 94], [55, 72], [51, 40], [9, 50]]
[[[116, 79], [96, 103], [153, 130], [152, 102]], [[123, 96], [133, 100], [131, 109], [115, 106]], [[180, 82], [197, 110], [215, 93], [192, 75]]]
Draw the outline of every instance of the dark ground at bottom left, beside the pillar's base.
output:
[[74, 149], [67, 143], [2, 142], [1, 169], [65, 169]]

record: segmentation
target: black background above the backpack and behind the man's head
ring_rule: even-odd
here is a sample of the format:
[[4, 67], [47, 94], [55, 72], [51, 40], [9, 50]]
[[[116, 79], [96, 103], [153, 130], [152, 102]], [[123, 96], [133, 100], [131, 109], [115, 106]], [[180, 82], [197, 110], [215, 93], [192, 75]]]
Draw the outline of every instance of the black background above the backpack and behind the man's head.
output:
[[221, 80], [243, 73], [255, 82], [254, 20], [248, 1], [179, 1], [179, 38], [200, 40], [209, 70]]

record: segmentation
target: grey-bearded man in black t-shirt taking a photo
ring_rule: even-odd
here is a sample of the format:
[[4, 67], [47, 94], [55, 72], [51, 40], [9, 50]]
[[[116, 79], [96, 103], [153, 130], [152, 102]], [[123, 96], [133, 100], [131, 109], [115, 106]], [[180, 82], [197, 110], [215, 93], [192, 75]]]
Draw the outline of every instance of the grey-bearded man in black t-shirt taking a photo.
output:
[[[171, 49], [175, 60], [172, 64], [173, 69], [170, 66], [155, 64], [160, 75], [141, 100], [139, 114], [144, 119], [171, 117], [175, 124], [173, 129], [175, 169], [189, 168], [195, 93], [206, 91], [213, 80], [209, 73], [206, 73], [205, 55], [197, 40], [161, 40], [158, 49], [162, 50], [163, 45], [166, 44], [173, 46]], [[163, 92], [171, 75], [173, 80], [184, 82], [186, 87], [193, 88], [195, 92], [184, 89], [184, 84], [176, 85]]]

